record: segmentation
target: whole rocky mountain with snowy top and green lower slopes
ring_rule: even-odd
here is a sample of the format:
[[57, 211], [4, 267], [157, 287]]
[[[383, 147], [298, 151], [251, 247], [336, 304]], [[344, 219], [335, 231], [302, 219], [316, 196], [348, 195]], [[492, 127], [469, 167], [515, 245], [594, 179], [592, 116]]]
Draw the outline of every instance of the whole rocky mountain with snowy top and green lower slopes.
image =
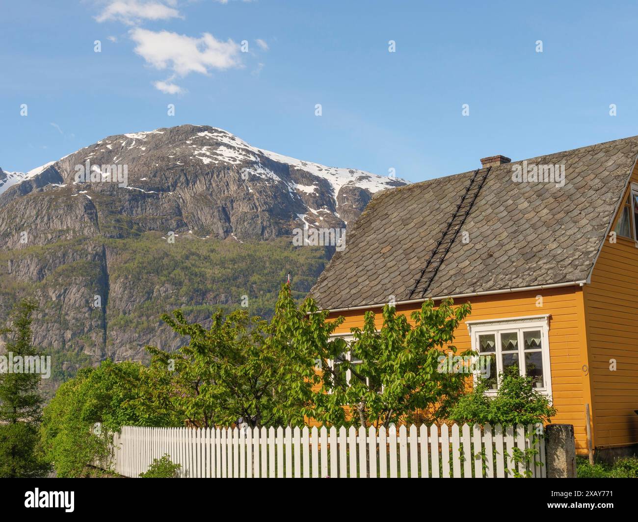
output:
[[[399, 178], [257, 149], [184, 125], [109, 136], [27, 173], [0, 170], [0, 317], [40, 303], [34, 337], [57, 377], [105, 357], [177, 347], [159, 314], [246, 304], [267, 315], [285, 273], [308, 291], [334, 245], [303, 228], [346, 228]], [[252, 309], [251, 309], [252, 308]]]

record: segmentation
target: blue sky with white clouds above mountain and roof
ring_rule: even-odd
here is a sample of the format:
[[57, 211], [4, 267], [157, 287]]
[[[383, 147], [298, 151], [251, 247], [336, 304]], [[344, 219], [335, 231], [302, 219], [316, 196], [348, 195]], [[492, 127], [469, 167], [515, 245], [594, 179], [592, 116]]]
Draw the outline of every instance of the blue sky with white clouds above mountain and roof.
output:
[[638, 134], [638, 4], [628, 2], [21, 0], [0, 10], [8, 171], [184, 123], [411, 181], [484, 156]]

